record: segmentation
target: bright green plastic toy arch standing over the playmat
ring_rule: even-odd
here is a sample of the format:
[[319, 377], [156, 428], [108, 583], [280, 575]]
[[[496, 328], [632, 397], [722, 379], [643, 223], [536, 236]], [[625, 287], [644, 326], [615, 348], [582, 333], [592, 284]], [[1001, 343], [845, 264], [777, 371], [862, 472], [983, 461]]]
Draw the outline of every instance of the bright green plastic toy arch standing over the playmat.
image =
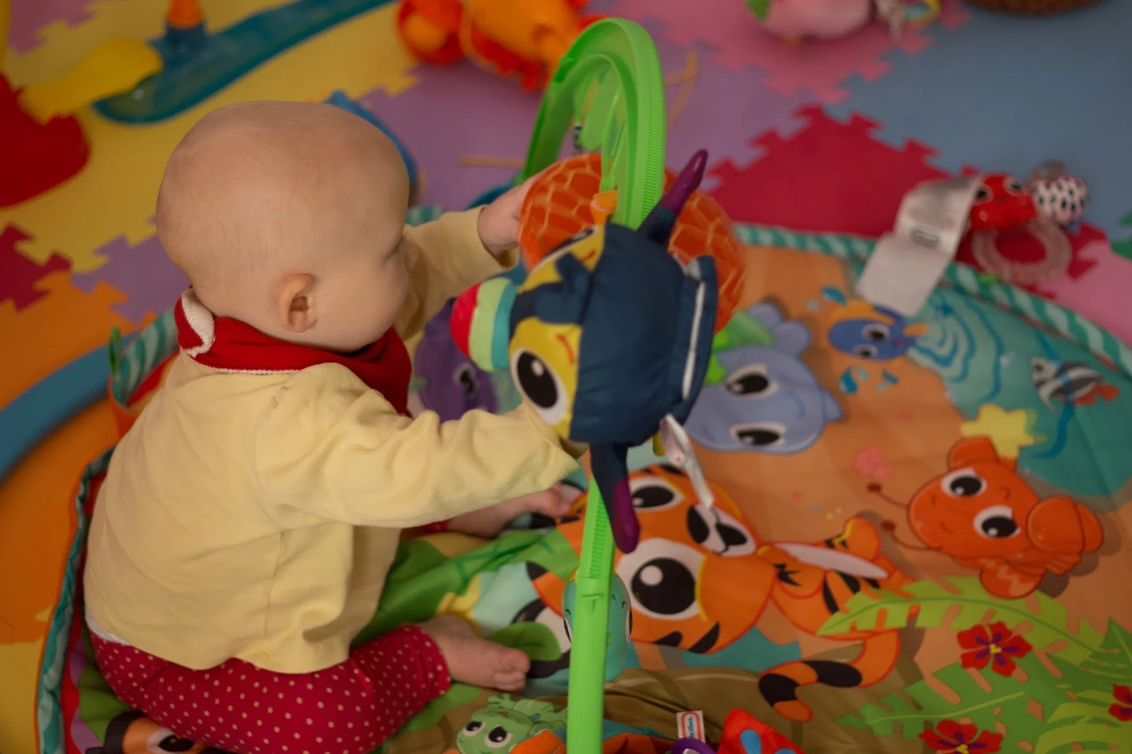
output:
[[[580, 128], [574, 130], [574, 126]], [[621, 18], [599, 20], [563, 55], [539, 109], [521, 178], [558, 160], [567, 134], [600, 152], [602, 190], [617, 189], [611, 220], [636, 228], [664, 185], [664, 79], [649, 33]], [[614, 534], [590, 483], [572, 620], [566, 745], [600, 754], [614, 575]]]

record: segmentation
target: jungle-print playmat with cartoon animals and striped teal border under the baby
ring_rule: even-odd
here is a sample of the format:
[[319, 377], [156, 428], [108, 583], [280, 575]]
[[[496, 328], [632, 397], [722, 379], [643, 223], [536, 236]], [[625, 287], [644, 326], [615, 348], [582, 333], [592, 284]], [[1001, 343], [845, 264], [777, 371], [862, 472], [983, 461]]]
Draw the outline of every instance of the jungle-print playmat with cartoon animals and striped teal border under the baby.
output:
[[[705, 515], [680, 472], [637, 454], [641, 546], [616, 565], [634, 643], [607, 688], [606, 751], [663, 751], [650, 736], [674, 738], [685, 710], [702, 710], [714, 738], [737, 708], [807, 754], [1132, 751], [1120, 554], [1132, 354], [967, 267], [904, 320], [849, 293], [871, 242], [738, 230], [752, 243], [744, 308], [715, 340], [687, 427], [718, 504]], [[417, 346], [414, 404], [449, 418], [514, 405], [505, 375], [455, 350], [445, 316]], [[126, 350], [117, 392], [171, 352], [171, 333], [163, 317]], [[77, 498], [44, 657], [43, 751], [199, 751], [127, 710], [91, 661], [75, 586], [105, 460]], [[533, 669], [522, 699], [454, 686], [391, 754], [534, 751], [560, 732], [559, 605], [583, 516], [584, 505], [491, 542], [401, 545], [360, 639], [456, 612], [526, 650]]]

